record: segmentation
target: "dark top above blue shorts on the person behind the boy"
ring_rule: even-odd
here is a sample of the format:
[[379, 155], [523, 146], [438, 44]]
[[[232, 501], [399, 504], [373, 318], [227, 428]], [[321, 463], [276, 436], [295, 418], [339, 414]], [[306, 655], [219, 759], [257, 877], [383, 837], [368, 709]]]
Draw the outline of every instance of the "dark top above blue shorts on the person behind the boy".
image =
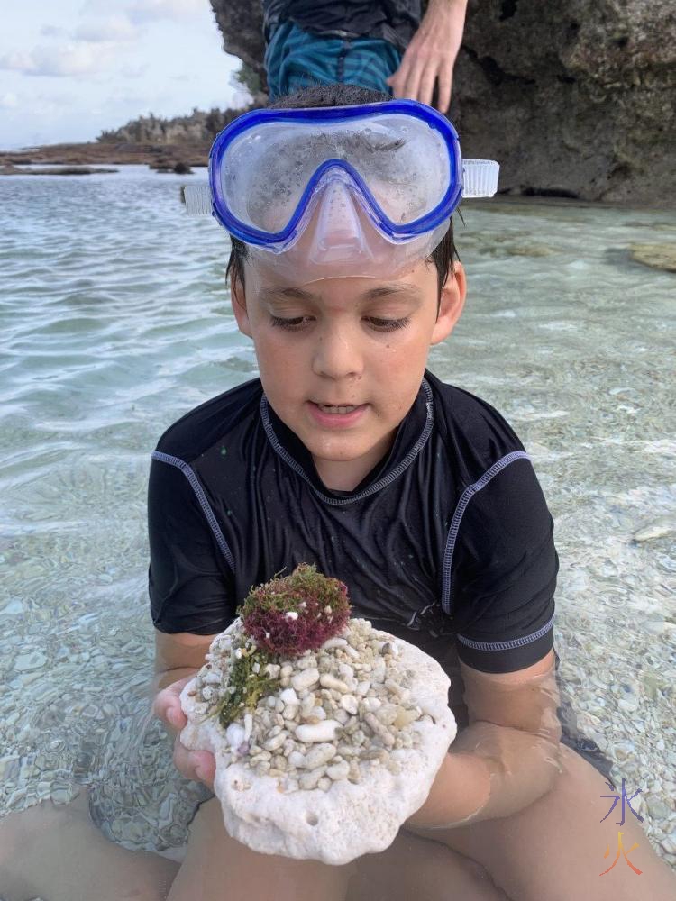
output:
[[312, 34], [339, 38], [381, 38], [406, 50], [420, 24], [420, 0], [263, 0], [263, 29], [269, 41], [280, 22]]

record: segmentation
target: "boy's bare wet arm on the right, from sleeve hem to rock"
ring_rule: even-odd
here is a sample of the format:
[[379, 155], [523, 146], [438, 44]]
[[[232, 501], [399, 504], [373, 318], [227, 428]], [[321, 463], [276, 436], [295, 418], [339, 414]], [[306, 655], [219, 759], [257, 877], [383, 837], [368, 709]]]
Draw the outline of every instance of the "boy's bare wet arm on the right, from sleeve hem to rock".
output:
[[461, 668], [470, 725], [407, 827], [449, 828], [516, 813], [549, 791], [560, 771], [553, 651], [511, 673]]

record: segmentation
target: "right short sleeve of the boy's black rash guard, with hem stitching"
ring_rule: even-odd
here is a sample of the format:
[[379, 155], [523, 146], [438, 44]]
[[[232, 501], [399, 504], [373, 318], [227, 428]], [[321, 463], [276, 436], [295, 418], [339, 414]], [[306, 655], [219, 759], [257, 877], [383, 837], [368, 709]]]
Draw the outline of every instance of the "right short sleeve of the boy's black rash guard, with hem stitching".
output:
[[474, 492], [455, 556], [452, 612], [461, 660], [490, 673], [541, 660], [553, 647], [559, 560], [530, 460], [511, 460]]

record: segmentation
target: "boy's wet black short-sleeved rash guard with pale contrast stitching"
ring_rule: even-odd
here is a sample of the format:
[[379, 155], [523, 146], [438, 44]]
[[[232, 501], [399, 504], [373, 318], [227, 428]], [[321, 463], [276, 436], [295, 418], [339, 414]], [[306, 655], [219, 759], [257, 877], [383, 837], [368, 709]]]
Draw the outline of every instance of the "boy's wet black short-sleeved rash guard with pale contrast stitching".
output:
[[251, 587], [306, 562], [347, 585], [353, 616], [437, 660], [503, 673], [553, 647], [558, 557], [533, 466], [492, 406], [428, 369], [353, 491], [324, 486], [254, 378], [162, 435], [148, 509], [160, 632], [221, 632]]

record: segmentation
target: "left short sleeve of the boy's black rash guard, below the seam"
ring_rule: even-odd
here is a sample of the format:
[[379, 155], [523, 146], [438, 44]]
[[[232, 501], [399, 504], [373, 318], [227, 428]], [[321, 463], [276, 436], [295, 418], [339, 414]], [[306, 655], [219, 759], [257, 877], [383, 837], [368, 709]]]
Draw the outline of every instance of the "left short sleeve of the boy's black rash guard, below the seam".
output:
[[152, 460], [148, 486], [152, 622], [163, 633], [222, 632], [235, 616], [232, 569], [206, 498], [198, 496], [196, 474], [181, 460], [169, 460]]

